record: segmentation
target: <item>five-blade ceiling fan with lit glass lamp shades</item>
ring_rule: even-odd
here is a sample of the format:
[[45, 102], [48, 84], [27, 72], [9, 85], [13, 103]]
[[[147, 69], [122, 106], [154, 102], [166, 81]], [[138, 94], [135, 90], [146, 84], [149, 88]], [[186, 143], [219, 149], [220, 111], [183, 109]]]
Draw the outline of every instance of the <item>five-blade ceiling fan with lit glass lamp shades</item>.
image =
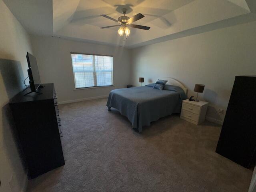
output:
[[[123, 9], [122, 9], [122, 12], [123, 12], [124, 16], [120, 16], [120, 17], [118, 18], [118, 20], [116, 20], [116, 19], [114, 19], [114, 18], [112, 18], [112, 17], [109, 17], [109, 16], [107, 16], [107, 15], [100, 15], [100, 16], [102, 16], [102, 17], [108, 18], [108, 19], [110, 19], [110, 20], [112, 20], [112, 21], [115, 21], [115, 22], [118, 22], [118, 23], [119, 23], [119, 25], [112, 25], [112, 26], [101, 27], [101, 29], [110, 28], [110, 27], [116, 27], [116, 26], [121, 26], [121, 27], [118, 29], [118, 34], [119, 34], [120, 36], [126, 36], [126, 38], [127, 38], [127, 36], [130, 35], [130, 29], [129, 29], [128, 27], [133, 27], [133, 28], [137, 28], [137, 29], [144, 29], [144, 30], [149, 30], [149, 29], [150, 29], [150, 27], [147, 27], [147, 26], [134, 25], [134, 24], [132, 24], [133, 22], [135, 22], [135, 21], [137, 21], [137, 20], [143, 18], [144, 15], [142, 15], [141, 13], [139, 13], [139, 14], [136, 14], [136, 15], [134, 15], [133, 17], [130, 18], [130, 17], [125, 16], [126, 11], [127, 11], [126, 8], [123, 8]], [[124, 37], [124, 39], [125, 39], [125, 37]]]

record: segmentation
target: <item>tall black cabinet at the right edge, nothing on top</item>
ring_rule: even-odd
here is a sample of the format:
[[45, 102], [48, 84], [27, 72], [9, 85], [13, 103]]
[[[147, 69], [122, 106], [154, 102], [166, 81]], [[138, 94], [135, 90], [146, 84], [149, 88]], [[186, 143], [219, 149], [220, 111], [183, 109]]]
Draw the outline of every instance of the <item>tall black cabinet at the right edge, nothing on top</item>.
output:
[[236, 76], [216, 152], [249, 168], [256, 162], [256, 76]]

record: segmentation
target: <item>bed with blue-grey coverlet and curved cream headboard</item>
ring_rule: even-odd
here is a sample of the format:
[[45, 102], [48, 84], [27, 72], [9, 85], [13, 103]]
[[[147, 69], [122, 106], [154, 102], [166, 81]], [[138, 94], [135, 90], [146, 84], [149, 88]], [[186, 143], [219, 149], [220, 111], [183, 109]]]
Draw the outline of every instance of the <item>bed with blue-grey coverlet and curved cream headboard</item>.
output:
[[106, 104], [108, 111], [116, 108], [138, 132], [159, 118], [180, 113], [187, 89], [173, 78], [160, 79], [168, 80], [163, 90], [154, 89], [154, 84], [112, 90]]

